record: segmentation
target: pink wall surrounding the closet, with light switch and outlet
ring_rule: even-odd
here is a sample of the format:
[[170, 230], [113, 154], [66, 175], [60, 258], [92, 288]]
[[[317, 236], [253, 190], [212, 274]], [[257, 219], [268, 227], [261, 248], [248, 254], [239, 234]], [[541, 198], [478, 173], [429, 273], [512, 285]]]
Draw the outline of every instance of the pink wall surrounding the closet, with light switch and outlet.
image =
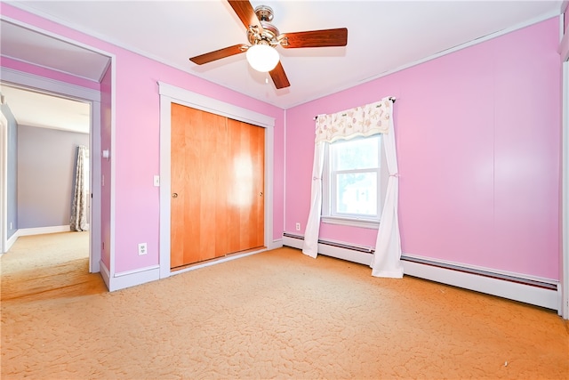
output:
[[[135, 271], [156, 265], [159, 234], [159, 189], [153, 186], [153, 176], [159, 174], [159, 96], [156, 81], [162, 81], [226, 101], [245, 109], [275, 117], [276, 185], [284, 175], [284, 110], [193, 77], [179, 69], [131, 53], [113, 44], [86, 36], [75, 30], [44, 20], [28, 12], [3, 4], [2, 14], [37, 28], [43, 28], [73, 41], [87, 44], [116, 56], [115, 84], [115, 149], [111, 160], [115, 164], [115, 210], [110, 217], [115, 222], [114, 271]], [[104, 148], [103, 148], [104, 149]], [[281, 156], [279, 156], [281, 155]], [[105, 169], [103, 168], [103, 172]], [[107, 186], [107, 178], [105, 185]], [[284, 229], [282, 214], [283, 190], [275, 190], [273, 237], [279, 239]], [[281, 198], [279, 198], [281, 197]], [[108, 198], [103, 198], [103, 212]], [[279, 214], [280, 213], [280, 214]], [[103, 238], [106, 238], [103, 230]], [[148, 255], [139, 256], [138, 243], [148, 243]], [[103, 255], [104, 257], [105, 255]]]

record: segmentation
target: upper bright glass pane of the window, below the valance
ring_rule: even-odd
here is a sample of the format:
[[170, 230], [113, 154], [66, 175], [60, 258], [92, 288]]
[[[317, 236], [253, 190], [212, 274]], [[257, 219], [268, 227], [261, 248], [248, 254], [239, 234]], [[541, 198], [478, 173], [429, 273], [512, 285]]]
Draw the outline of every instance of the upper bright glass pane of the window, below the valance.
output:
[[369, 169], [379, 166], [379, 139], [378, 134], [331, 144], [333, 170]]

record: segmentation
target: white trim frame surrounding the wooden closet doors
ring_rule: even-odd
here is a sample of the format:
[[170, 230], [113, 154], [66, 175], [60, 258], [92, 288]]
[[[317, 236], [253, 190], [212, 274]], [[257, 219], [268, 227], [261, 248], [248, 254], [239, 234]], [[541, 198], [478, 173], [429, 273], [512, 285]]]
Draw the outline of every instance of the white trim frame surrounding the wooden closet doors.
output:
[[[173, 85], [158, 82], [160, 93], [160, 279], [171, 275], [170, 269], [170, 212], [171, 212], [171, 105], [181, 104], [194, 109], [201, 109], [220, 116], [230, 117], [252, 125], [265, 128], [265, 236], [267, 249], [275, 248], [273, 242], [273, 160], [275, 118], [243, 109], [224, 101], [218, 101]], [[260, 250], [262, 251], [262, 250]], [[256, 252], [260, 252], [256, 251]], [[256, 252], [244, 255], [252, 255]], [[243, 255], [232, 256], [231, 259]], [[220, 263], [228, 259], [216, 261]], [[209, 265], [211, 263], [204, 263]], [[199, 265], [197, 266], [199, 267]], [[196, 266], [192, 267], [195, 269]], [[183, 271], [176, 271], [180, 273]]]

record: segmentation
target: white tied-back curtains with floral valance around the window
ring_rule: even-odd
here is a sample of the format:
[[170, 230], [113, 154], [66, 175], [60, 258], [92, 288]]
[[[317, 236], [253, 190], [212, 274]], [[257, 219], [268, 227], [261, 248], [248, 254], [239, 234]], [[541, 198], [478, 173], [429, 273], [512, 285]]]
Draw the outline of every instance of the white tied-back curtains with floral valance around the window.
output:
[[310, 212], [302, 247], [304, 255], [316, 258], [318, 254], [325, 144], [337, 140], [349, 140], [356, 136], [383, 133], [389, 182], [371, 264], [372, 275], [391, 278], [403, 277], [403, 266], [400, 263], [401, 239], [397, 219], [398, 174], [395, 130], [393, 127], [393, 100], [394, 98], [387, 97], [363, 107], [317, 117]]

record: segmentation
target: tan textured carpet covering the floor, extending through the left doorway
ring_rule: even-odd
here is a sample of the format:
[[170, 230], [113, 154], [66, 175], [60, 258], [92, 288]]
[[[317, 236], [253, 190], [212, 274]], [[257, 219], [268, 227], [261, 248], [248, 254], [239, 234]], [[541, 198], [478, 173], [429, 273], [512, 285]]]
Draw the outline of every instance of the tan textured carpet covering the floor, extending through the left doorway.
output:
[[1, 259], [3, 379], [569, 378], [555, 311], [293, 248], [108, 293], [71, 234]]

